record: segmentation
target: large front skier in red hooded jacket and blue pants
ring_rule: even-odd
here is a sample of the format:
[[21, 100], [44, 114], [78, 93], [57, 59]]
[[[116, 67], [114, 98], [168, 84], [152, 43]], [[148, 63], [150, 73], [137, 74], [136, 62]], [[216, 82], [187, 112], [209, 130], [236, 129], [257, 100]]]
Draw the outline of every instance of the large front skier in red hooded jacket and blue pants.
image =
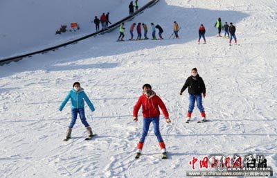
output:
[[161, 133], [159, 131], [159, 118], [160, 118], [160, 111], [159, 107], [161, 108], [164, 117], [166, 118], [167, 123], [171, 123], [168, 110], [166, 109], [166, 105], [164, 105], [163, 101], [159, 96], [152, 91], [152, 87], [150, 84], [143, 85], [143, 94], [139, 97], [139, 100], [136, 102], [133, 111], [133, 118], [134, 121], [138, 121], [138, 112], [143, 106], [143, 134], [141, 135], [141, 139], [137, 145], [137, 154], [141, 154], [141, 150], [143, 149], [143, 143], [145, 141], [145, 137], [148, 134], [150, 123], [153, 123], [154, 127], [154, 134], [157, 136], [159, 141], [159, 145], [161, 148], [161, 152], [166, 154], [166, 145], [163, 142], [163, 138], [161, 137]]

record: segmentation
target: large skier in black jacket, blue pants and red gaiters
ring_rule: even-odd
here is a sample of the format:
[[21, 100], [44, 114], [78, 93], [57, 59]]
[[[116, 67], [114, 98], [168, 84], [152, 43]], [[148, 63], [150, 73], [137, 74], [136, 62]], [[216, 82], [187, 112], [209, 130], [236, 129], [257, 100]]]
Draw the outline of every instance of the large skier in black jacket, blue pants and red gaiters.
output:
[[187, 113], [187, 122], [191, 119], [191, 114], [193, 113], [193, 109], [195, 107], [195, 100], [197, 103], [197, 107], [201, 113], [202, 116], [202, 122], [206, 121], [206, 114], [204, 107], [202, 105], [202, 94], [203, 97], [206, 97], [206, 87], [204, 80], [199, 76], [197, 73], [197, 69], [193, 68], [191, 70], [190, 77], [187, 78], [184, 86], [182, 87], [180, 91], [180, 95], [183, 94], [183, 92], [188, 88], [188, 94], [189, 94], [189, 105], [188, 105], [188, 113]]

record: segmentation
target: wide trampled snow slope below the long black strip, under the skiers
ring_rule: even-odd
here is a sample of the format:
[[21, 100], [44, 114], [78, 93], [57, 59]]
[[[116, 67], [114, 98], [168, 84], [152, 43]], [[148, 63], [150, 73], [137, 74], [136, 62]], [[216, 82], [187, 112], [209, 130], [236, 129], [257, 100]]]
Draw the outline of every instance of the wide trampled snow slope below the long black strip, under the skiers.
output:
[[[168, 38], [176, 20], [181, 39], [116, 42], [115, 30], [1, 66], [0, 177], [186, 177], [193, 157], [249, 153], [264, 154], [276, 177], [276, 9], [272, 0], [160, 0], [134, 21], [160, 24]], [[216, 37], [218, 17], [233, 21], [240, 46]], [[205, 45], [197, 44], [199, 24], [206, 26]], [[179, 96], [193, 67], [206, 82], [211, 121], [203, 124], [185, 123], [187, 91]], [[62, 141], [71, 109], [57, 109], [75, 81], [96, 107], [85, 107], [98, 134], [93, 141], [84, 141], [80, 120], [73, 139]], [[146, 82], [172, 120], [161, 116], [168, 160], [161, 160], [152, 127], [134, 159], [142, 116], [134, 123], [132, 109]], [[196, 107], [193, 117], [199, 120]]]

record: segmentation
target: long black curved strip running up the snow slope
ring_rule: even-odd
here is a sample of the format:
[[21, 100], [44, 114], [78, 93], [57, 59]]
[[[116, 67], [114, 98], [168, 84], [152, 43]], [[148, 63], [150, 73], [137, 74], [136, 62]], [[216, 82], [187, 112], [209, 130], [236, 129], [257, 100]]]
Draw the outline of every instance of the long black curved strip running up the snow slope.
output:
[[9, 62], [12, 62], [12, 61], [19, 61], [19, 60], [23, 59], [24, 57], [31, 57], [32, 55], [35, 55], [35, 54], [46, 53], [48, 51], [55, 51], [55, 49], [60, 48], [62, 46], [66, 46], [66, 45], [69, 45], [69, 44], [75, 44], [75, 43], [77, 43], [79, 41], [82, 41], [84, 39], [87, 39], [89, 37], [93, 37], [93, 36], [96, 36], [96, 35], [99, 35], [99, 34], [107, 33], [107, 32], [109, 32], [111, 30], [114, 30], [116, 27], [120, 26], [121, 23], [123, 23], [125, 21], [128, 21], [130, 19], [133, 19], [136, 15], [139, 15], [146, 8], [150, 8], [150, 7], [154, 6], [154, 4], [156, 4], [158, 1], [159, 0], [152, 0], [149, 3], [146, 3], [145, 6], [141, 7], [139, 10], [134, 12], [132, 15], [129, 15], [129, 16], [125, 17], [124, 19], [121, 19], [120, 21], [116, 22], [115, 24], [112, 24], [111, 26], [109, 26], [109, 28], [107, 28], [105, 30], [100, 30], [100, 31], [98, 31], [96, 33], [91, 33], [91, 34], [86, 35], [84, 37], [80, 37], [78, 39], [74, 39], [72, 41], [69, 41], [69, 42], [66, 42], [66, 43], [63, 43], [63, 44], [59, 44], [57, 46], [52, 46], [52, 47], [49, 47], [49, 48], [44, 48], [42, 50], [35, 51], [35, 52], [32, 52], [32, 53], [27, 53], [27, 54], [24, 54], [24, 55], [18, 55], [18, 56], [15, 56], [15, 57], [8, 57], [6, 59], [1, 59], [0, 60], [0, 64], [2, 64], [2, 65], [3, 64], [8, 64]]

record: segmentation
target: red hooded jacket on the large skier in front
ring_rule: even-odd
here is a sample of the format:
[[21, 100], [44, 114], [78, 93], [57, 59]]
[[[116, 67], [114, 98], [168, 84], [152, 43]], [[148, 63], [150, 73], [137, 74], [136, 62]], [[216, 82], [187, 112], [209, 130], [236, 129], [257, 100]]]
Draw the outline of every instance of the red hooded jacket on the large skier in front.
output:
[[143, 117], [144, 118], [151, 118], [151, 117], [157, 117], [160, 115], [159, 107], [161, 108], [163, 115], [165, 118], [168, 118], [168, 110], [166, 109], [166, 105], [164, 105], [163, 101], [159, 96], [157, 96], [154, 91], [152, 91], [152, 94], [150, 97], [145, 96], [145, 94], [142, 94], [139, 97], [139, 100], [136, 102], [136, 105], [134, 106], [133, 116], [138, 117], [139, 109], [141, 108], [141, 105], [143, 105]]

